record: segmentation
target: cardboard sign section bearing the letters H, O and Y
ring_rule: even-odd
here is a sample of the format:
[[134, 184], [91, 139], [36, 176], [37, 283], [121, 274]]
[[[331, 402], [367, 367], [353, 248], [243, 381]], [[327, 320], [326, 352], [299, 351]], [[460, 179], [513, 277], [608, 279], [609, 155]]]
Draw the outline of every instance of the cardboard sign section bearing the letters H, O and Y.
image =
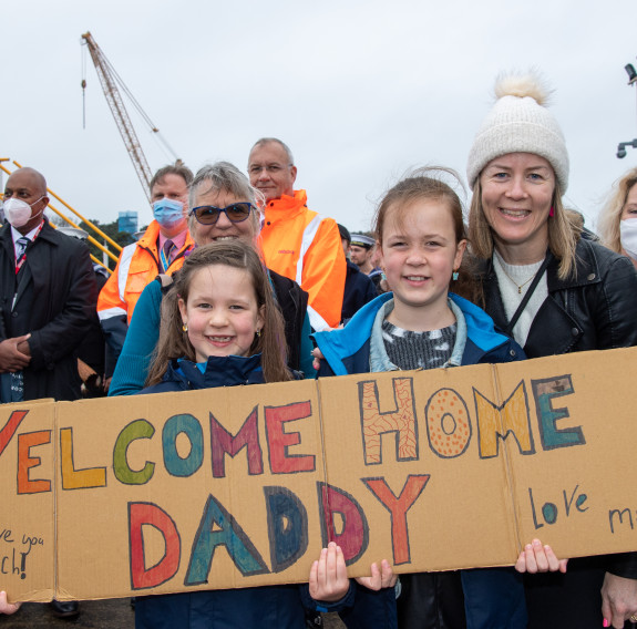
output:
[[[492, 375], [484, 365], [320, 381], [328, 483], [351, 494], [369, 524], [368, 551], [351, 574], [368, 574], [382, 558], [410, 573], [515, 557], [504, 460], [477, 467], [472, 390], [495, 400]], [[395, 505], [392, 515], [386, 505], [421, 485], [407, 513]]]

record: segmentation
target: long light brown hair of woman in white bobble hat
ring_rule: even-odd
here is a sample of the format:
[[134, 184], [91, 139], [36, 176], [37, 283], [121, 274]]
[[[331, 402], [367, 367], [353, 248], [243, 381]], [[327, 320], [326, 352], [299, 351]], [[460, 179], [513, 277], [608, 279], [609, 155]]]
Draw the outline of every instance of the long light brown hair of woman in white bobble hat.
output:
[[[553, 190], [552, 205], [554, 216], [548, 218], [548, 248], [559, 262], [557, 276], [559, 279], [566, 279], [571, 274], [575, 272], [575, 247], [577, 246], [577, 240], [579, 240], [582, 229], [577, 227], [576, 221], [564, 209], [557, 179]], [[477, 258], [491, 259], [494, 247], [493, 233], [482, 206], [482, 183], [480, 176], [475, 182], [473, 198], [469, 209], [469, 237], [472, 252]]]

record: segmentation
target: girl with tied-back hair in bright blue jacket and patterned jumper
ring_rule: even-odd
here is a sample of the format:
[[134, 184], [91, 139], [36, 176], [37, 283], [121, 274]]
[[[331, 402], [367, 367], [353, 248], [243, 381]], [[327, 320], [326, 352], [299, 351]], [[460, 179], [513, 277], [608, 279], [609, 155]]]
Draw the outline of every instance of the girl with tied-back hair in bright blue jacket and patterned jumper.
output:
[[[325, 358], [319, 378], [525, 358], [483, 310], [450, 292], [450, 283], [463, 281], [466, 236], [462, 204], [449, 185], [428, 172], [404, 178], [381, 202], [374, 230], [392, 292], [364, 306], [343, 329], [315, 334]], [[516, 568], [556, 570], [561, 565], [548, 547], [534, 540], [522, 551]], [[500, 600], [503, 618], [525, 615], [522, 584], [512, 569], [503, 570], [512, 585]], [[480, 573], [480, 578], [493, 575], [492, 570]], [[460, 573], [403, 575], [400, 589], [399, 626], [466, 626]], [[470, 621], [472, 626], [481, 625]], [[497, 626], [510, 627], [506, 621]]]

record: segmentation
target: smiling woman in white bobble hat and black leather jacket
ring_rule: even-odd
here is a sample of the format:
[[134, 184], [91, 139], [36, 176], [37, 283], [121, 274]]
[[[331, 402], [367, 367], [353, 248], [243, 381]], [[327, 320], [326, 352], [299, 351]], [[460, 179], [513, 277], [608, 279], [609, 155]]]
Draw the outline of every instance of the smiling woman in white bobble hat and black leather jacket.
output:
[[[562, 205], [564, 135], [534, 73], [497, 81], [497, 101], [469, 155], [469, 235], [477, 303], [528, 358], [637, 344], [630, 261], [579, 238]], [[607, 421], [610, 417], [606, 419]], [[637, 612], [637, 555], [572, 559], [566, 574], [463, 574], [468, 627], [624, 627]], [[602, 594], [600, 594], [602, 592]]]

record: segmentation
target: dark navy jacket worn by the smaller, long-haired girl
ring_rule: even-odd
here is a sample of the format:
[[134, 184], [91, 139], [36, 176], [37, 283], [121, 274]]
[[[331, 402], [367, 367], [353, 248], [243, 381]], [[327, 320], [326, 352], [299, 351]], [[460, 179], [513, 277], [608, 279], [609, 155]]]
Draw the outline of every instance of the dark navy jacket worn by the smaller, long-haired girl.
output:
[[[173, 360], [158, 384], [140, 392], [163, 393], [264, 382], [260, 354], [210, 357], [205, 364]], [[304, 629], [305, 611], [339, 611], [353, 605], [356, 585], [332, 604], [317, 602], [307, 585], [263, 586], [227, 590], [137, 597], [136, 629]]]

